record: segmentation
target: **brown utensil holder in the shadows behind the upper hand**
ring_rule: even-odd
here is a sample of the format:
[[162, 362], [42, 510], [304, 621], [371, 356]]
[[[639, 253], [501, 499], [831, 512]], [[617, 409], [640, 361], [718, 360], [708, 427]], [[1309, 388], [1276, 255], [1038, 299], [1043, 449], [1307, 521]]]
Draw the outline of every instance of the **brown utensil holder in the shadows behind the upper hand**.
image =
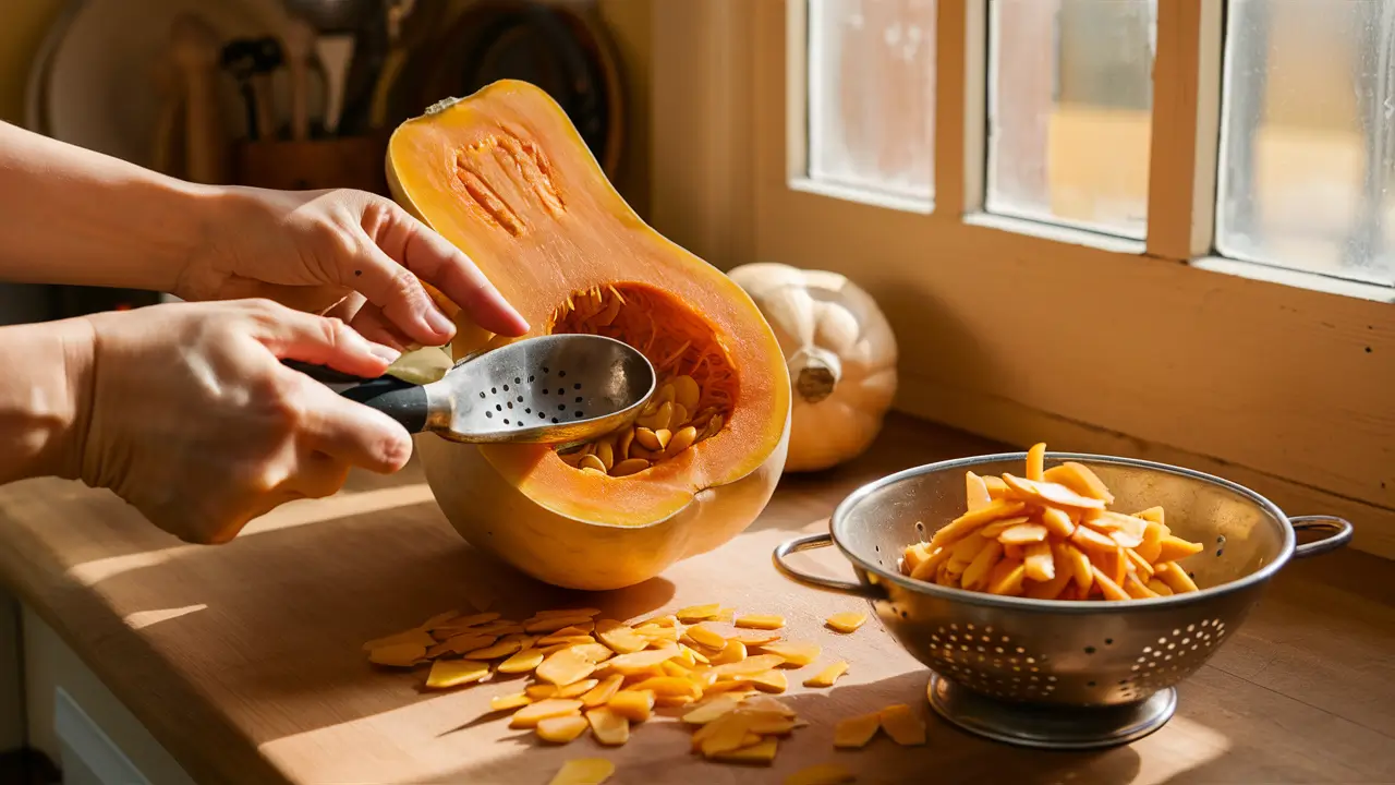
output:
[[386, 133], [311, 141], [243, 140], [233, 155], [233, 183], [259, 189], [359, 189], [388, 194]]

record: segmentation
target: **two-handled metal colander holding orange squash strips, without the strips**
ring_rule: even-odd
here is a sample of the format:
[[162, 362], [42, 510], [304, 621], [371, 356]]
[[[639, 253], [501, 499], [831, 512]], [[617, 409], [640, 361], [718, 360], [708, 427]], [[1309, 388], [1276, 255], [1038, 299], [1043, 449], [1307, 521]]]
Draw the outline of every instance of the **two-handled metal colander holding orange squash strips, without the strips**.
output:
[[[848, 496], [829, 534], [776, 549], [787, 575], [865, 596], [883, 624], [932, 670], [929, 700], [950, 722], [993, 739], [1050, 749], [1130, 742], [1176, 710], [1173, 686], [1235, 634], [1265, 582], [1292, 556], [1341, 548], [1352, 524], [1329, 515], [1289, 518], [1272, 501], [1201, 472], [1105, 455], [1048, 453], [1046, 465], [1078, 461], [1109, 486], [1113, 510], [1161, 506], [1173, 534], [1205, 550], [1180, 564], [1200, 591], [1122, 602], [995, 596], [911, 580], [907, 545], [964, 513], [964, 472], [1020, 474], [1025, 453], [942, 461], [907, 469]], [[1295, 531], [1325, 539], [1296, 543]], [[837, 545], [858, 582], [813, 575], [790, 563], [797, 550]]]

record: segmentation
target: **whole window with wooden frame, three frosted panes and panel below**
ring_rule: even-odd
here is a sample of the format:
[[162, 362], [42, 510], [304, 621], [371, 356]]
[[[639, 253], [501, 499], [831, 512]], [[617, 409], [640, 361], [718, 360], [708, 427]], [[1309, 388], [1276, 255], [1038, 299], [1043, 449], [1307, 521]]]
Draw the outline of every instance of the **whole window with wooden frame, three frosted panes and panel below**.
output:
[[855, 281], [898, 409], [1222, 474], [1395, 556], [1395, 0], [654, 8], [654, 95], [700, 99], [654, 113], [658, 229]]

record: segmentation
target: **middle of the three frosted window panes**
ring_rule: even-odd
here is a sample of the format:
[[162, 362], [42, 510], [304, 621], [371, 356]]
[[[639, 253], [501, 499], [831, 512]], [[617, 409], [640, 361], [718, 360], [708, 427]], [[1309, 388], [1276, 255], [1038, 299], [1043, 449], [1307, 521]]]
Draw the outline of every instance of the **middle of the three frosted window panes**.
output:
[[989, 212], [1143, 237], [1155, 0], [992, 0]]

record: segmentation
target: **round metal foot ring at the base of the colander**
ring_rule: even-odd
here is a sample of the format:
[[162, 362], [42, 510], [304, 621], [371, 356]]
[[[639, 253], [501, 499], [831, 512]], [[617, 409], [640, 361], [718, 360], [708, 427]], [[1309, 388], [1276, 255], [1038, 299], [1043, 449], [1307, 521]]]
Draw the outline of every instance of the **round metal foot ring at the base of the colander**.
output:
[[1099, 708], [1007, 703], [930, 673], [926, 696], [935, 711], [970, 733], [1042, 750], [1096, 750], [1137, 742], [1172, 719], [1177, 690], [1158, 690], [1130, 705]]

